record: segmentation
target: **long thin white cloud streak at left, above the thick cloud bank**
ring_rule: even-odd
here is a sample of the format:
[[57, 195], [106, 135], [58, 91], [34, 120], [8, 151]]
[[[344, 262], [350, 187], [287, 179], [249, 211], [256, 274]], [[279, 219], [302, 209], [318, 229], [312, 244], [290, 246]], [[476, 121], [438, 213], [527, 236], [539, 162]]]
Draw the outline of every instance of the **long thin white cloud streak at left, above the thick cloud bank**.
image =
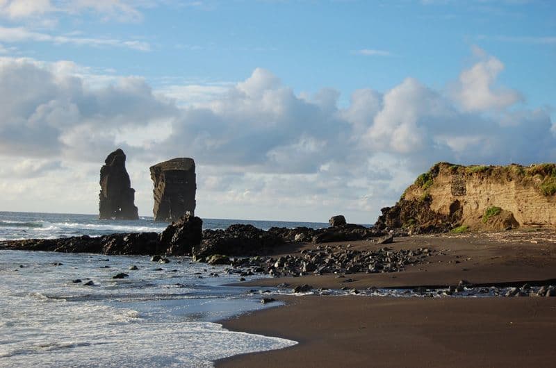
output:
[[49, 35], [30, 31], [24, 27], [0, 26], [0, 41], [8, 43], [17, 42], [49, 42], [52, 44], [74, 44], [76, 46], [91, 47], [124, 47], [138, 51], [150, 51], [147, 42], [137, 40], [117, 40], [113, 38], [75, 37], [69, 35]]

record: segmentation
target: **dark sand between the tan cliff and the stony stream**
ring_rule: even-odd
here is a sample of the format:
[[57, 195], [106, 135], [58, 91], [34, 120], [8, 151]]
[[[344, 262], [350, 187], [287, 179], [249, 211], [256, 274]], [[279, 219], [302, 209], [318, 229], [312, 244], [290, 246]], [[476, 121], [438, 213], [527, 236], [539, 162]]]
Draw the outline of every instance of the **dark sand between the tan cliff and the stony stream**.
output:
[[[350, 249], [379, 249], [384, 245], [374, 242], [334, 242], [327, 245], [350, 245]], [[315, 249], [318, 244], [295, 244], [277, 248], [274, 257], [286, 254], [297, 255], [306, 249]], [[341, 287], [419, 287], [457, 285], [460, 280], [472, 284], [515, 283], [516, 286], [530, 281], [552, 281], [556, 278], [556, 230], [544, 228], [540, 231], [505, 231], [490, 233], [467, 233], [465, 235], [436, 234], [396, 237], [389, 249], [418, 249], [427, 247], [436, 253], [426, 263], [409, 265], [404, 271], [388, 273], [357, 273], [345, 276], [334, 274], [321, 276], [309, 274], [301, 277], [264, 278], [235, 286], [275, 287], [287, 283], [291, 287], [309, 284], [313, 287], [339, 289]]]

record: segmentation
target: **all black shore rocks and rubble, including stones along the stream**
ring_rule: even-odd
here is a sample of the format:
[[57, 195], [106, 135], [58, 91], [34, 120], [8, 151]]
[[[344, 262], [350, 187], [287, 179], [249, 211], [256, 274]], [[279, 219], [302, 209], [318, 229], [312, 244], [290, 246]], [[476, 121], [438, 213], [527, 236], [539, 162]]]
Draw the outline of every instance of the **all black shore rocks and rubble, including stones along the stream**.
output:
[[[209, 265], [229, 265], [229, 274], [244, 276], [268, 274], [275, 277], [335, 275], [342, 290], [355, 294], [375, 292], [375, 288], [357, 290], [352, 286], [357, 275], [390, 274], [420, 265], [438, 262], [445, 256], [434, 247], [409, 246], [404, 249], [395, 237], [407, 233], [391, 229], [379, 230], [346, 224], [343, 217], [332, 217], [328, 228], [270, 228], [264, 231], [252, 225], [236, 224], [225, 230], [202, 230], [202, 219], [184, 215], [158, 233], [122, 233], [101, 237], [65, 237], [59, 239], [10, 240], [0, 242], [0, 249], [27, 251], [57, 251], [72, 253], [103, 253], [119, 255], [151, 255], [152, 260], [170, 262], [166, 256], [191, 256]], [[359, 244], [352, 246], [352, 244]], [[361, 244], [368, 244], [361, 246]], [[471, 259], [471, 258], [470, 258]], [[456, 260], [455, 264], [459, 261]], [[353, 275], [353, 276], [350, 276]], [[538, 285], [537, 285], [538, 284]], [[424, 285], [424, 284], [423, 284]], [[519, 285], [519, 284], [518, 284]], [[523, 285], [523, 284], [521, 284]], [[530, 285], [534, 286], [531, 287]], [[412, 294], [471, 294], [485, 292], [505, 296], [554, 296], [551, 283], [530, 283], [513, 289], [488, 290], [493, 283], [471, 285], [460, 281], [457, 285], [411, 288]], [[499, 287], [517, 286], [514, 283]], [[287, 286], [286, 286], [287, 287]], [[448, 288], [447, 290], [442, 290]], [[310, 285], [297, 285], [294, 292], [315, 290]]]

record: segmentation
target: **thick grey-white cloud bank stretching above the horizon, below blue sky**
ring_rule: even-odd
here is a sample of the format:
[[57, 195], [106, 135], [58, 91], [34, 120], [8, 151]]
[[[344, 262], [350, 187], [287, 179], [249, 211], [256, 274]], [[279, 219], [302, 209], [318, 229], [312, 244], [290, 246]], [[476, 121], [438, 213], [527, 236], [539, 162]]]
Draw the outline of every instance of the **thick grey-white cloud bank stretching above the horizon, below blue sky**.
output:
[[502, 61], [474, 54], [442, 90], [406, 78], [386, 92], [356, 90], [347, 106], [336, 90], [298, 95], [261, 68], [188, 103], [137, 77], [105, 81], [70, 62], [0, 58], [8, 96], [0, 165], [12, 168], [0, 170], [0, 205], [94, 213], [99, 167], [117, 147], [143, 214], [152, 208], [148, 167], [188, 156], [201, 216], [326, 221], [343, 213], [360, 223], [374, 222], [439, 160], [555, 161], [549, 112], [524, 108], [519, 92], [497, 82]]

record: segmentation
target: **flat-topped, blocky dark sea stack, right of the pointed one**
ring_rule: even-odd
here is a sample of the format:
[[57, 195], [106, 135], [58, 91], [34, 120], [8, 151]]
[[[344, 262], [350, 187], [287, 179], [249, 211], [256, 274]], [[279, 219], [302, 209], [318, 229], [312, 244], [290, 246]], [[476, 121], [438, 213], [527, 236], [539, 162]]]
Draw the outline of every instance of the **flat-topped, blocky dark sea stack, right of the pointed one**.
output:
[[154, 182], [154, 221], [176, 221], [195, 215], [195, 161], [173, 158], [151, 167]]

